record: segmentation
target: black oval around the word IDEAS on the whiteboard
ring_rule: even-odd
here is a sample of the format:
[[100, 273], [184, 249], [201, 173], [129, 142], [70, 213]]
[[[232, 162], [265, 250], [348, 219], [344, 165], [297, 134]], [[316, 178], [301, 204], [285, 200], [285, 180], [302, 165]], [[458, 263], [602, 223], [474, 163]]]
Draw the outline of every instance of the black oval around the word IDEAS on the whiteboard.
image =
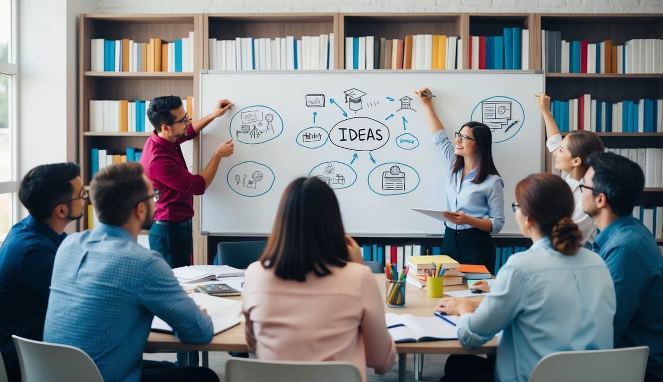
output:
[[341, 149], [375, 151], [389, 141], [389, 127], [369, 117], [343, 119], [331, 128], [330, 141]]

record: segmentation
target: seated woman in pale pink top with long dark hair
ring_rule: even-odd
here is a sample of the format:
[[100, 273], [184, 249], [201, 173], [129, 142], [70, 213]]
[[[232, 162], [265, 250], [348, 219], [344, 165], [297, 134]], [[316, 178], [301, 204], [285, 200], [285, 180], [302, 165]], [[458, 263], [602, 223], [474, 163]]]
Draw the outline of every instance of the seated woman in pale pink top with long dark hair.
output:
[[322, 180], [288, 185], [267, 247], [245, 277], [246, 338], [258, 358], [348, 361], [363, 381], [366, 367], [383, 374], [396, 361], [385, 302]]

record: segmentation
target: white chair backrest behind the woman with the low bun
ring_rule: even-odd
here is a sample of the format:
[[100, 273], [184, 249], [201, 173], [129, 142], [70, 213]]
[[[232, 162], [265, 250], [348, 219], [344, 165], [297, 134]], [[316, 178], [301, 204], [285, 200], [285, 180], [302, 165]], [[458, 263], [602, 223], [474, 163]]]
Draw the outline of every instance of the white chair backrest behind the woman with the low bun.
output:
[[529, 382], [643, 381], [649, 348], [558, 351], [543, 357]]

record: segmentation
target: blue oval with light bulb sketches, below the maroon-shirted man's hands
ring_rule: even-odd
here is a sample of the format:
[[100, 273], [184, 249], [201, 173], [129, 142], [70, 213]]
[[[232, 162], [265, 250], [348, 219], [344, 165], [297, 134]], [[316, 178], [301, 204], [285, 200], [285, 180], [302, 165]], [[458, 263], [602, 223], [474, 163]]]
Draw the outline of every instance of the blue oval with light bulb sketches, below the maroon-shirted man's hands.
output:
[[267, 194], [274, 186], [275, 178], [269, 166], [253, 160], [235, 164], [226, 176], [230, 189], [248, 198]]

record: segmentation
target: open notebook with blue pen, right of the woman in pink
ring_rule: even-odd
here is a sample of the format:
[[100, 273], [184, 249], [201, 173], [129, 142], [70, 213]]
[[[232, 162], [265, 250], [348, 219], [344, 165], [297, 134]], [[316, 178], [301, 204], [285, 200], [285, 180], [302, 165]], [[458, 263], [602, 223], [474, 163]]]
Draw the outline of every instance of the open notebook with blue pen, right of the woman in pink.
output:
[[[445, 316], [455, 322], [458, 316]], [[387, 330], [394, 342], [457, 340], [458, 328], [437, 316], [418, 317], [412, 314], [385, 314]]]

